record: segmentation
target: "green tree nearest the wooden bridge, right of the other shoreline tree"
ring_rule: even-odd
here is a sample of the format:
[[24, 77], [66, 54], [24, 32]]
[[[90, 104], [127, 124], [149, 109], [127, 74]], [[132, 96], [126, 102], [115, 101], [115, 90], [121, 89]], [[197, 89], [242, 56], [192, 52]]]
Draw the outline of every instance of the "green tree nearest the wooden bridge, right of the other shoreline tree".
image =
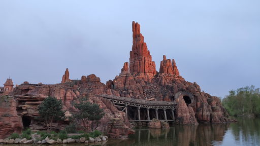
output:
[[86, 127], [87, 121], [100, 120], [105, 115], [103, 109], [100, 108], [98, 104], [90, 103], [87, 100], [87, 97], [83, 97], [79, 99], [78, 103], [74, 103], [74, 106], [79, 111], [74, 113], [73, 117], [80, 120], [83, 123], [84, 128]]

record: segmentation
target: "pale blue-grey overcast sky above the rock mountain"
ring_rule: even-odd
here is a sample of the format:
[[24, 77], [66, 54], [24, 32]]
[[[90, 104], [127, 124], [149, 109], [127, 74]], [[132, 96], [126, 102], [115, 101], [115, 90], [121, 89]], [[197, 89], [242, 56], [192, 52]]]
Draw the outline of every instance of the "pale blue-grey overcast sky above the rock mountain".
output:
[[113, 80], [129, 61], [132, 21], [156, 69], [163, 55], [211, 95], [260, 87], [260, 1], [0, 0], [0, 86], [60, 83], [95, 74]]

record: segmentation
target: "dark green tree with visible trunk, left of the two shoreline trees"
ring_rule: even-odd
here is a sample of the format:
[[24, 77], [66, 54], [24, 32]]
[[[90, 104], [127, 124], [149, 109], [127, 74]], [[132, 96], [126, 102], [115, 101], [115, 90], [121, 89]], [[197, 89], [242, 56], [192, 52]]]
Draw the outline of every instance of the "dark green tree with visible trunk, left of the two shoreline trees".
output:
[[44, 120], [47, 131], [52, 129], [53, 121], [61, 120], [64, 117], [62, 102], [55, 97], [45, 98], [38, 107], [40, 119]]

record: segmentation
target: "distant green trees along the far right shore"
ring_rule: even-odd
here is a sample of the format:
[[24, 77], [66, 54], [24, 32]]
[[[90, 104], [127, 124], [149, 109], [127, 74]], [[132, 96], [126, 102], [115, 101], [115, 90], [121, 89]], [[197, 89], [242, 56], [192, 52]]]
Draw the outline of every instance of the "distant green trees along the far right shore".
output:
[[231, 116], [260, 115], [259, 88], [246, 86], [231, 90], [230, 95], [222, 100], [223, 106]]

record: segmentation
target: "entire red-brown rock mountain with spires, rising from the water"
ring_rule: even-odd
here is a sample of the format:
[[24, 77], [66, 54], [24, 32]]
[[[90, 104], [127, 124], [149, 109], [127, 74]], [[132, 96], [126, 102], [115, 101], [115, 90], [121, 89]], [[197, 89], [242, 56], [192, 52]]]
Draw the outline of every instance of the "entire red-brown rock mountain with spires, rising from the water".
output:
[[[109, 80], [106, 85], [95, 75], [82, 76], [81, 80], [70, 80], [68, 68], [61, 84], [44, 85], [25, 82], [14, 88], [9, 96], [0, 98], [0, 139], [8, 134], [29, 126], [34, 130], [44, 129], [44, 124], [37, 120], [38, 105], [47, 97], [62, 100], [66, 116], [77, 112], [72, 102], [88, 96], [89, 101], [99, 104], [105, 116], [98, 122], [89, 122], [88, 130], [99, 129], [112, 138], [127, 137], [134, 133], [129, 119], [124, 112], [118, 111], [114, 104], [98, 96], [109, 94], [128, 98], [153, 101], [178, 102], [176, 124], [198, 124], [198, 122], [232, 122], [216, 96], [202, 92], [200, 86], [190, 83], [179, 75], [175, 61], [166, 59], [160, 62], [160, 70], [155, 70], [150, 52], [140, 33], [140, 25], [133, 22], [133, 46], [129, 64], [125, 62], [119, 76]], [[186, 97], [190, 99], [186, 102]], [[184, 99], [185, 97], [185, 99]], [[8, 104], [5, 104], [7, 102]], [[54, 128], [62, 129], [69, 121], [54, 123]], [[82, 124], [82, 123], [81, 123]]]

